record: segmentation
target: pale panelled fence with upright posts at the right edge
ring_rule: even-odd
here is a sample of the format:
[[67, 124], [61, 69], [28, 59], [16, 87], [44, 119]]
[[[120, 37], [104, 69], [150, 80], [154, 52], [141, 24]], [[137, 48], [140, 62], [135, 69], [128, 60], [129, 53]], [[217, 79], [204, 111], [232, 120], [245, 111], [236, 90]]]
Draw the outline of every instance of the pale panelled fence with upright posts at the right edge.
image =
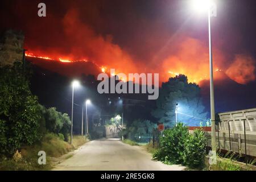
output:
[[[219, 122], [216, 125], [217, 148], [255, 157], [256, 108], [219, 113], [218, 116]], [[211, 146], [211, 133], [209, 130], [205, 133], [209, 137], [208, 146]]]

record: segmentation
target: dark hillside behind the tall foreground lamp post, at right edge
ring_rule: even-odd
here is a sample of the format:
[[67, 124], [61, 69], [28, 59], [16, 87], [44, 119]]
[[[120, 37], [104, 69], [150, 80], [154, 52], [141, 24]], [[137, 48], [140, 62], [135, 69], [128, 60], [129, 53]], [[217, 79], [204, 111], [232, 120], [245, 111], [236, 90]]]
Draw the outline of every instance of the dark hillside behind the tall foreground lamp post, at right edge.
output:
[[[242, 85], [231, 80], [224, 72], [214, 72], [214, 100], [216, 113], [256, 107], [256, 81]], [[210, 111], [209, 80], [200, 82], [204, 105]]]

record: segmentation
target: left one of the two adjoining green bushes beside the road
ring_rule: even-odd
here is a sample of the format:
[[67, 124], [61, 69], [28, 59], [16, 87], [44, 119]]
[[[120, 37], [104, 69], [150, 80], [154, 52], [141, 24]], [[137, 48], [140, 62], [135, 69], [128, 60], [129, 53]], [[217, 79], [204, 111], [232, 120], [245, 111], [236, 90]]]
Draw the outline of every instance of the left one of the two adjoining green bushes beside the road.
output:
[[153, 158], [167, 164], [182, 164], [184, 143], [188, 135], [188, 127], [183, 126], [182, 123], [178, 123], [177, 127], [172, 129], [164, 130], [164, 137], [160, 137], [160, 148]]

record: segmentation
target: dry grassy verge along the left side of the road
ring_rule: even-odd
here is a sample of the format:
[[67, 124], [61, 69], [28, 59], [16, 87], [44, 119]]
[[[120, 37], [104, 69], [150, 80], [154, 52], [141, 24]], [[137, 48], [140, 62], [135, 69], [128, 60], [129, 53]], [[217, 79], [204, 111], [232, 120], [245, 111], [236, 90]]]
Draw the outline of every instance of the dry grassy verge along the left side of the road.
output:
[[[17, 162], [14, 159], [4, 159], [0, 162], [1, 170], [11, 171], [38, 171], [38, 170], [49, 170], [52, 168], [51, 158], [58, 158], [61, 155], [67, 154], [68, 152], [75, 150], [81, 144], [86, 142], [85, 137], [74, 136], [73, 145], [62, 140], [58, 135], [48, 133], [40, 142], [33, 144], [32, 146], [23, 146], [19, 151], [22, 158]], [[46, 152], [46, 165], [38, 164], [38, 152]], [[72, 155], [68, 155], [66, 158], [71, 158]]]

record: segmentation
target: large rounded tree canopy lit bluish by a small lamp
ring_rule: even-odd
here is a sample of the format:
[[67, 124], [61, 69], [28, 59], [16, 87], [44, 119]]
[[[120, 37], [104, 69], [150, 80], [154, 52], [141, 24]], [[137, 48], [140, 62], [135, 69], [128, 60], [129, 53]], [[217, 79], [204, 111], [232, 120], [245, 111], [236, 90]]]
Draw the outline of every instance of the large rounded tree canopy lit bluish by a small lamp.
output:
[[188, 126], [200, 126], [203, 120], [199, 118], [207, 119], [207, 112], [204, 111], [205, 107], [200, 97], [200, 87], [195, 83], [188, 83], [185, 75], [169, 78], [163, 83], [159, 90], [159, 98], [156, 100], [156, 109], [152, 111], [152, 115], [158, 118], [159, 122], [166, 123], [166, 126], [174, 126], [176, 104], [178, 104], [177, 111], [179, 112], [178, 122], [183, 122]]

